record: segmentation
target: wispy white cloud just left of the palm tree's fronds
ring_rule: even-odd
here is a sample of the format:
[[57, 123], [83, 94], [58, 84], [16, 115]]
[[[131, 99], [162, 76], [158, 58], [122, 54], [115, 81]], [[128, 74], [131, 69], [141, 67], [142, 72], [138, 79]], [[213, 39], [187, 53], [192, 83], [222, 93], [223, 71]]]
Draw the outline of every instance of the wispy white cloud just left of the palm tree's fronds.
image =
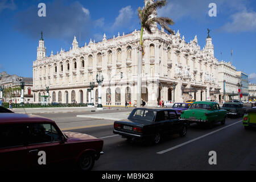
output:
[[121, 26], [127, 26], [130, 20], [133, 18], [134, 11], [131, 9], [131, 6], [123, 7], [119, 10], [119, 15], [115, 18], [115, 22], [112, 28], [117, 28]]

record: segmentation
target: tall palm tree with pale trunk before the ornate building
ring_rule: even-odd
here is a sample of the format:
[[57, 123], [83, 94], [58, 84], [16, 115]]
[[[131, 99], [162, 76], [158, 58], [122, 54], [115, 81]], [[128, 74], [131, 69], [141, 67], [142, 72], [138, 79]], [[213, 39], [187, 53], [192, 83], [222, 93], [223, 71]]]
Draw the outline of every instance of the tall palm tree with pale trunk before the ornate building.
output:
[[142, 82], [142, 52], [143, 52], [143, 31], [144, 29], [148, 34], [152, 34], [152, 28], [156, 23], [164, 28], [170, 34], [174, 34], [174, 31], [171, 30], [169, 25], [174, 24], [174, 21], [171, 18], [167, 17], [151, 17], [150, 15], [154, 14], [157, 9], [165, 6], [167, 0], [160, 1], [147, 1], [145, 7], [138, 9], [139, 19], [141, 20], [141, 39], [139, 41], [139, 52], [138, 52], [138, 90], [137, 90], [137, 106], [141, 106], [141, 82]]

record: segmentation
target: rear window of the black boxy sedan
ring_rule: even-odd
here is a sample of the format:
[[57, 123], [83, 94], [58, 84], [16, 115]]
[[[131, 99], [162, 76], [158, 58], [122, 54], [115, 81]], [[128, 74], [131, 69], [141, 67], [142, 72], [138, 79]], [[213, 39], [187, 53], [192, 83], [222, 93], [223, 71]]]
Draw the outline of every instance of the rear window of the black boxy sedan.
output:
[[145, 121], [154, 121], [156, 116], [156, 111], [136, 109], [133, 110], [129, 116], [129, 119], [142, 119]]

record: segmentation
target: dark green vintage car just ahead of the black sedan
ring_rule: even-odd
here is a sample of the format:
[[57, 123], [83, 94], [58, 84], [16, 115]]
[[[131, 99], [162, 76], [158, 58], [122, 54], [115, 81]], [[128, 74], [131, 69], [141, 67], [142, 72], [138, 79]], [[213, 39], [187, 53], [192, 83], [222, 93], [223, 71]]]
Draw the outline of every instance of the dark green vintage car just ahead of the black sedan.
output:
[[217, 102], [200, 101], [193, 102], [188, 110], [181, 113], [180, 117], [189, 123], [203, 123], [212, 127], [214, 122], [221, 122], [224, 125], [226, 113], [226, 110], [220, 109]]

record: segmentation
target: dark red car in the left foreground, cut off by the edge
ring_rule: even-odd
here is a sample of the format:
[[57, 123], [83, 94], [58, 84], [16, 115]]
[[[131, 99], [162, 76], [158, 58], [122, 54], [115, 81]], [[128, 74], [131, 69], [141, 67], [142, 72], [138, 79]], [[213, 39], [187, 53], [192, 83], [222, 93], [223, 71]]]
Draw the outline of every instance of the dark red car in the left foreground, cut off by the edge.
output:
[[90, 170], [104, 154], [102, 147], [103, 140], [81, 133], [63, 133], [51, 119], [0, 113], [0, 169], [75, 166]]

